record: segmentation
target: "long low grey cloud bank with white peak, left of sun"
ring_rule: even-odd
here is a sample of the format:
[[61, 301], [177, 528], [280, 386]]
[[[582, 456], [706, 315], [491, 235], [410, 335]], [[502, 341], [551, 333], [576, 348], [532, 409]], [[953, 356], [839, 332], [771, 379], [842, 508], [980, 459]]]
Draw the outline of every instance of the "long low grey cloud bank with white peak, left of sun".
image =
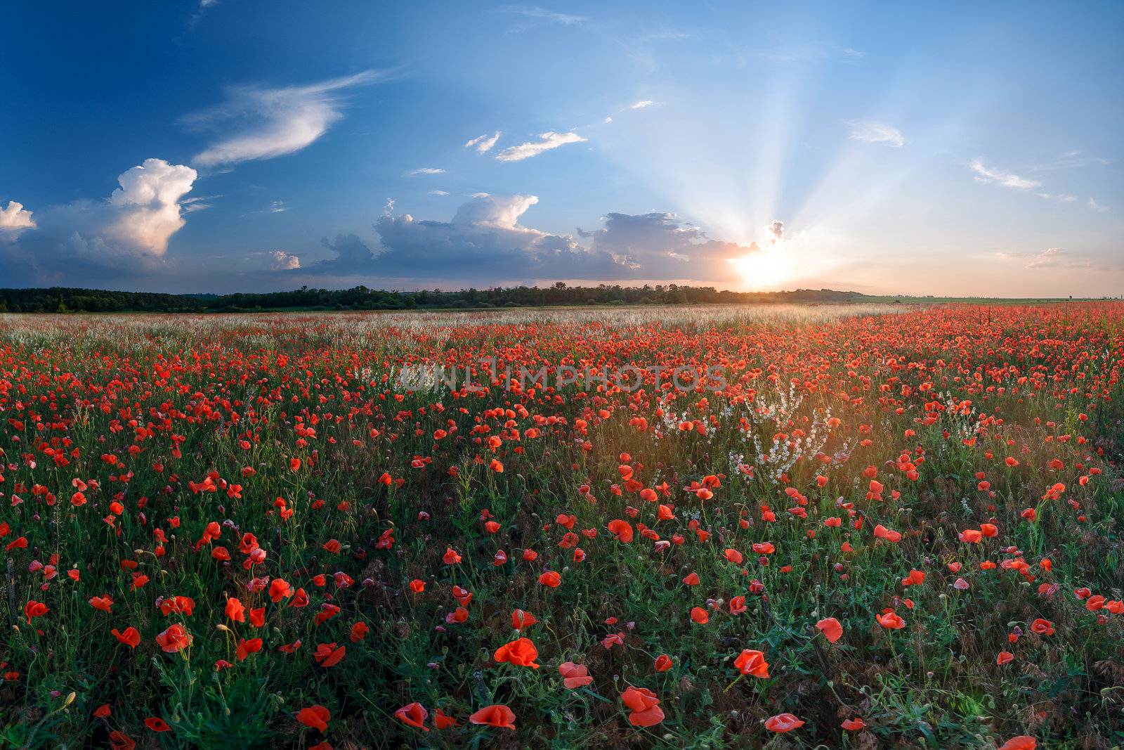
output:
[[551, 234], [522, 223], [538, 202], [528, 195], [481, 193], [448, 222], [409, 215], [383, 216], [372, 249], [356, 235], [325, 240], [333, 257], [301, 266], [316, 275], [378, 275], [454, 282], [527, 279], [699, 279], [725, 281], [728, 260], [756, 251], [709, 238], [673, 214], [608, 214], [604, 226], [578, 234]]

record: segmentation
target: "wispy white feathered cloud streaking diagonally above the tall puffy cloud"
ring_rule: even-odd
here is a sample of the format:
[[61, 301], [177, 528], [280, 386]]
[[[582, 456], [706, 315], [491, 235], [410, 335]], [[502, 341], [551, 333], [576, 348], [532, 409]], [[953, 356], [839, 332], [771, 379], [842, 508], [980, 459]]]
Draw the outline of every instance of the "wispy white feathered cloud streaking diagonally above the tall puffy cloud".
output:
[[343, 117], [343, 91], [381, 78], [384, 74], [379, 71], [364, 71], [309, 85], [232, 89], [226, 103], [189, 118], [188, 124], [221, 124], [226, 129], [235, 123], [236, 133], [196, 154], [192, 162], [217, 166], [296, 153]]

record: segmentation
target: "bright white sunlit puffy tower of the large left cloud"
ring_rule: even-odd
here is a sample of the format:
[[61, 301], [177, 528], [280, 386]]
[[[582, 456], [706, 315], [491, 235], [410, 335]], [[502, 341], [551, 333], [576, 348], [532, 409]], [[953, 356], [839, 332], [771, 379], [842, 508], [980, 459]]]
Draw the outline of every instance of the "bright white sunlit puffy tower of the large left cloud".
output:
[[190, 166], [146, 159], [117, 178], [120, 188], [109, 197], [119, 216], [107, 233], [137, 249], [163, 255], [169, 238], [184, 220], [180, 199], [191, 190], [198, 174]]

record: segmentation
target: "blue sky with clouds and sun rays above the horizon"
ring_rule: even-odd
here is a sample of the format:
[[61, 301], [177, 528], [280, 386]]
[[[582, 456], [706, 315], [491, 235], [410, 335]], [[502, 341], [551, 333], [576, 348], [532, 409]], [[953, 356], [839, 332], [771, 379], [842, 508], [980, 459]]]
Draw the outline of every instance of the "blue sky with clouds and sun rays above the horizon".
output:
[[4, 15], [0, 286], [1124, 291], [1120, 3]]

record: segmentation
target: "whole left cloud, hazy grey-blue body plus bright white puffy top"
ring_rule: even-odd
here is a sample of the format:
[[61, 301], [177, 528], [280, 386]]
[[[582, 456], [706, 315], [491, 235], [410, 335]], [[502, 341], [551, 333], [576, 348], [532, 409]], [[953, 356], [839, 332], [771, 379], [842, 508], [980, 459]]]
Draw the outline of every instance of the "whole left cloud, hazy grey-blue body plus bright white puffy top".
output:
[[196, 177], [190, 166], [147, 159], [121, 173], [105, 200], [36, 211], [35, 231], [0, 247], [0, 268], [28, 284], [120, 282], [157, 268], [184, 225], [183, 196]]

